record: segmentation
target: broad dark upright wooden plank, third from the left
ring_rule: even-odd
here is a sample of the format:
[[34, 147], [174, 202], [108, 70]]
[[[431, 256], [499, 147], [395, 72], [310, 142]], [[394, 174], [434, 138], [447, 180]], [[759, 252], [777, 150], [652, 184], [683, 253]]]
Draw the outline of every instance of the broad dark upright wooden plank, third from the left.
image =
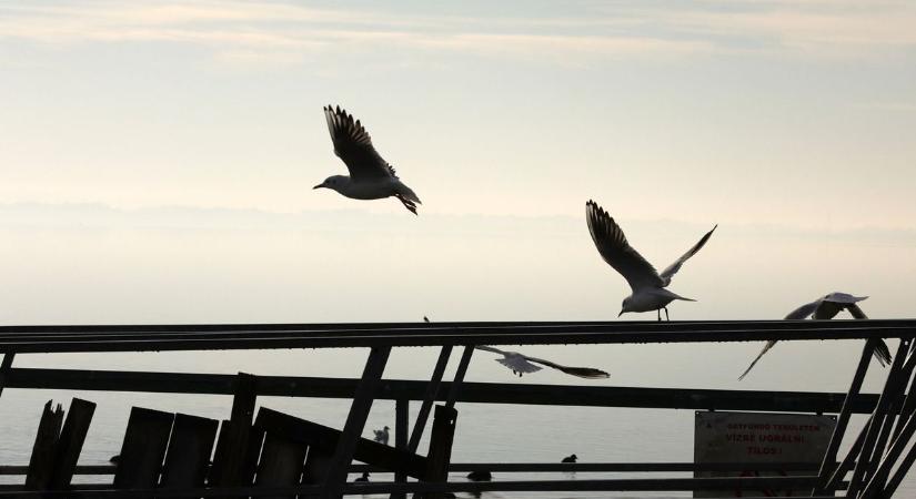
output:
[[130, 410], [121, 458], [114, 470], [114, 487], [153, 488], [159, 482], [174, 414], [133, 407]]

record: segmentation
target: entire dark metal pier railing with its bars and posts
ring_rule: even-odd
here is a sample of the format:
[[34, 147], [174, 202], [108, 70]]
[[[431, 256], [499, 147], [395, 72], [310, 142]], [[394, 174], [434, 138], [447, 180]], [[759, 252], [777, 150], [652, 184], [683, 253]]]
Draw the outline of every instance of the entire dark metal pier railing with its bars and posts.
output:
[[[147, 391], [181, 394], [224, 394], [240, 399], [239, 376], [203, 373], [144, 373], [94, 369], [43, 369], [13, 367], [17, 354], [72, 352], [162, 352], [225, 350], [270, 348], [370, 348], [362, 378], [316, 378], [295, 376], [246, 377], [248, 400], [256, 396], [345, 398], [352, 400], [348, 419], [334, 430], [334, 445], [323, 461], [319, 482], [285, 485], [256, 482], [179, 489], [114, 488], [111, 485], [79, 485], [60, 490], [23, 490], [17, 486], [0, 489], [0, 497], [339, 497], [340, 495], [422, 493], [442, 497], [446, 491], [674, 491], [714, 489], [808, 489], [812, 497], [890, 497], [916, 460], [916, 320], [766, 320], [766, 322], [613, 322], [613, 323], [401, 323], [401, 324], [252, 324], [252, 325], [105, 325], [105, 326], [4, 326], [0, 327], [0, 390], [74, 389], [103, 391]], [[879, 338], [899, 338], [893, 365], [886, 369], [879, 394], [860, 394], [872, 350]], [[865, 347], [846, 394], [806, 391], [712, 390], [682, 388], [593, 387], [565, 385], [520, 385], [464, 383], [474, 345], [554, 345], [623, 343], [709, 343], [758, 340], [864, 339]], [[383, 379], [389, 354], [394, 347], [441, 347], [430, 380]], [[452, 350], [460, 348], [455, 378], [443, 374]], [[436, 414], [431, 452], [424, 462], [435, 468], [417, 481], [407, 481], [404, 470], [353, 464], [354, 455], [365, 455], [361, 442], [373, 400], [395, 401], [395, 449], [415, 455], [420, 436], [436, 400], [443, 415], [454, 411], [456, 403], [520, 404], [593, 407], [641, 407], [658, 409], [754, 410], [837, 414], [838, 422], [827, 454], [818, 469], [811, 465], [779, 464], [779, 469], [811, 473], [793, 477], [755, 478], [626, 478], [576, 480], [500, 480], [491, 482], [447, 481], [447, 471], [489, 470], [506, 472], [547, 471], [654, 471], [678, 472], [716, 468], [691, 462], [618, 464], [451, 464], [451, 428], [439, 426], [449, 417]], [[407, 407], [421, 401], [411, 431]], [[0, 404], [2, 399], [0, 398]], [[233, 407], [233, 418], [236, 409]], [[852, 414], [869, 414], [869, 420], [845, 457], [838, 458], [839, 444]], [[253, 415], [249, 414], [251, 418]], [[90, 414], [91, 417], [91, 414]], [[250, 424], [251, 421], [249, 421]], [[308, 424], [308, 421], [303, 421]], [[443, 429], [444, 428], [444, 429]], [[323, 430], [322, 430], [323, 431]], [[311, 438], [311, 437], [310, 437]], [[260, 440], [259, 440], [260, 441]], [[361, 447], [362, 446], [362, 447]], [[433, 449], [435, 447], [435, 449]], [[362, 449], [362, 450], [361, 450]], [[219, 452], [219, 444], [218, 444]], [[433, 456], [433, 455], [436, 456]], [[74, 461], [76, 462], [76, 461]], [[754, 465], [766, 470], [766, 465]], [[794, 468], [793, 468], [794, 467]], [[395, 481], [348, 483], [349, 472], [386, 469]], [[728, 464], [725, 469], [747, 469], [746, 464]], [[117, 467], [76, 467], [77, 475], [112, 475]], [[24, 475], [27, 467], [2, 466], [0, 475]], [[852, 477], [847, 476], [852, 472]]]

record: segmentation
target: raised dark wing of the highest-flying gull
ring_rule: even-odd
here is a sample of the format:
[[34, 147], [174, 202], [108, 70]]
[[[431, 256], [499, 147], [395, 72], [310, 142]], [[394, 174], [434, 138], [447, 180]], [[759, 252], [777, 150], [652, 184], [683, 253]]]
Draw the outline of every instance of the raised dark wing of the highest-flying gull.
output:
[[361, 181], [397, 176], [394, 169], [372, 146], [372, 139], [360, 120], [353, 121], [352, 114], [340, 106], [333, 109], [330, 105], [324, 108], [324, 118], [334, 143], [334, 154], [346, 164], [351, 179]]

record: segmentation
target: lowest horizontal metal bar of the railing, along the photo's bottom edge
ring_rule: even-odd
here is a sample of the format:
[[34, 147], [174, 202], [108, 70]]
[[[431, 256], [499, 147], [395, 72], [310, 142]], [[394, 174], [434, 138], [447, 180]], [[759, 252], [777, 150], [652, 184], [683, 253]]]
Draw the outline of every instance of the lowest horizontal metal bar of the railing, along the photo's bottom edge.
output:
[[[345, 495], [390, 492], [484, 492], [484, 491], [675, 491], [675, 490], [764, 490], [804, 489], [814, 486], [817, 477], [742, 477], [742, 478], [662, 478], [613, 480], [535, 480], [535, 481], [461, 481], [461, 482], [365, 482], [346, 483]], [[0, 498], [141, 498], [141, 497], [230, 497], [230, 496], [308, 496], [319, 493], [321, 486], [236, 487], [199, 489], [111, 489], [73, 486], [64, 491], [0, 490]]]

